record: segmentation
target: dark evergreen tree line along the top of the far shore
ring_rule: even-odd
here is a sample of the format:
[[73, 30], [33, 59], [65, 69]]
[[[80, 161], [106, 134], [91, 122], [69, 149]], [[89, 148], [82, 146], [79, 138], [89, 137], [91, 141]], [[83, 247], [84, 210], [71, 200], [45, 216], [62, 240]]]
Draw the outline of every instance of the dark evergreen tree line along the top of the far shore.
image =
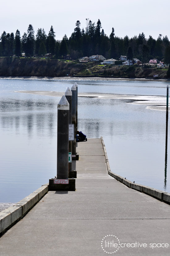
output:
[[170, 63], [170, 44], [168, 36], [159, 34], [157, 39], [152, 36], [146, 38], [144, 33], [129, 38], [115, 36], [114, 28], [109, 36], [104, 33], [100, 19], [97, 23], [86, 19], [86, 28], [80, 28], [80, 21], [75, 23], [74, 32], [68, 38], [66, 34], [62, 40], [56, 40], [56, 35], [51, 26], [48, 35], [44, 28], [38, 28], [35, 35], [33, 26], [30, 24], [21, 37], [17, 29], [14, 33], [2, 33], [0, 37], [0, 57], [21, 56], [26, 57], [44, 56], [51, 53], [53, 58], [62, 58], [70, 54], [73, 59], [95, 54], [103, 55], [106, 59], [113, 58], [119, 60], [121, 55], [129, 59], [138, 58], [142, 63], [147, 63], [150, 59], [156, 58], [159, 61], [168, 59]]

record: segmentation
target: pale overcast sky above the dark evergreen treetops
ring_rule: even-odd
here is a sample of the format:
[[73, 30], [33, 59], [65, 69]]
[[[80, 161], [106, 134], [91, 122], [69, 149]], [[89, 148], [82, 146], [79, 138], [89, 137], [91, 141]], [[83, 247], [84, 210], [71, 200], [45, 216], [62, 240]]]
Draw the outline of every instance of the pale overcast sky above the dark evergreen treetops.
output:
[[168, 36], [170, 0], [8, 0], [1, 2], [0, 35], [16, 30], [21, 36], [27, 32], [32, 24], [35, 35], [38, 28], [44, 28], [48, 35], [53, 26], [56, 40], [62, 40], [66, 34], [70, 37], [74, 32], [77, 20], [81, 29], [86, 28], [86, 18], [101, 26], [106, 35], [110, 35], [112, 28], [115, 36], [130, 38], [144, 33], [157, 39], [159, 34]]

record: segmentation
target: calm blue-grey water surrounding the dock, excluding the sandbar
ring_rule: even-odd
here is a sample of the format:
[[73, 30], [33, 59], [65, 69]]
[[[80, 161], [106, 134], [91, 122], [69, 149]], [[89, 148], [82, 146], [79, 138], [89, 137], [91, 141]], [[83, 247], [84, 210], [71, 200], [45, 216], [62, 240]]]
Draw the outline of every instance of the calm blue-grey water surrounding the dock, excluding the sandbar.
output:
[[[166, 82], [75, 81], [85, 93], [166, 96]], [[15, 91], [65, 92], [75, 81], [0, 79], [0, 202], [18, 202], [57, 173], [60, 97]], [[166, 112], [130, 102], [79, 97], [78, 130], [88, 138], [103, 136], [114, 173], [170, 192], [169, 157], [165, 175]]]

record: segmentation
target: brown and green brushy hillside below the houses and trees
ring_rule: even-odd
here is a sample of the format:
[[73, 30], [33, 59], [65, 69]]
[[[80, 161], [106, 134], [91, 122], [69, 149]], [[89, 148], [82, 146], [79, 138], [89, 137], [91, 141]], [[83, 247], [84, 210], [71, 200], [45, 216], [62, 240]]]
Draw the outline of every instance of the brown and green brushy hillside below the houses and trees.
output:
[[167, 69], [96, 65], [96, 63], [77, 63], [57, 59], [38, 58], [0, 58], [0, 76], [37, 76], [37, 77], [112, 77], [112, 78], [167, 78]]

